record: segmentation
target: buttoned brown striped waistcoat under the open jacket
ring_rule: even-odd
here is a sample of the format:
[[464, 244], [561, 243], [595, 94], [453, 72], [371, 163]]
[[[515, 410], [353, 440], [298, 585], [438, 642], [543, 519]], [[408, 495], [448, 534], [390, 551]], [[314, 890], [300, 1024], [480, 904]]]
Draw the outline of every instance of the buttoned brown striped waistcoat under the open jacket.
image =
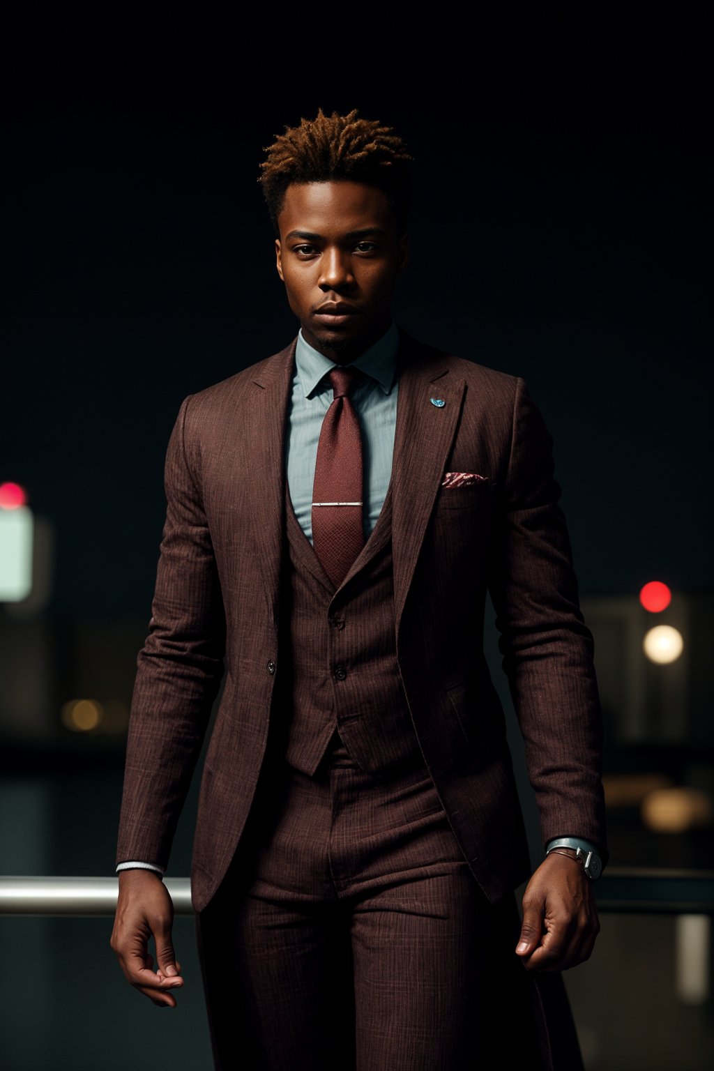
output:
[[359, 572], [338, 591], [289, 498], [286, 529], [283, 619], [290, 663], [277, 712], [287, 720], [286, 757], [313, 775], [337, 729], [363, 770], [389, 776], [395, 766], [421, 758], [397, 665], [391, 491]]

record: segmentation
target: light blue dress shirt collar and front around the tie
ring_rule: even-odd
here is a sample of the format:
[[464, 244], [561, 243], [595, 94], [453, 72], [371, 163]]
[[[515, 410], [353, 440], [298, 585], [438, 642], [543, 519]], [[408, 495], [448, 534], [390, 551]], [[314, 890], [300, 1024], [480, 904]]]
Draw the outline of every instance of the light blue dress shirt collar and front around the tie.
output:
[[[394, 429], [397, 419], [396, 378], [399, 332], [393, 322], [389, 331], [351, 365], [364, 373], [350, 401], [360, 421], [364, 472], [365, 540], [377, 524], [392, 477]], [[328, 373], [339, 365], [305, 342], [302, 331], [295, 348], [290, 412], [285, 437], [286, 472], [292, 509], [313, 542], [313, 484], [317, 444], [324, 414], [333, 398]]]

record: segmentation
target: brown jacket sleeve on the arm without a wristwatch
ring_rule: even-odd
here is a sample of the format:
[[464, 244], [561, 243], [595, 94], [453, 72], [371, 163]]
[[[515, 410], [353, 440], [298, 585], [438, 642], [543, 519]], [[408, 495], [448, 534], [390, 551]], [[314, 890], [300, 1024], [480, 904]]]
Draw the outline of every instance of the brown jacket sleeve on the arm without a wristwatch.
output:
[[165, 868], [223, 677], [225, 616], [200, 473], [185, 449], [191, 397], [166, 456], [167, 499], [149, 635], [132, 699], [117, 862]]

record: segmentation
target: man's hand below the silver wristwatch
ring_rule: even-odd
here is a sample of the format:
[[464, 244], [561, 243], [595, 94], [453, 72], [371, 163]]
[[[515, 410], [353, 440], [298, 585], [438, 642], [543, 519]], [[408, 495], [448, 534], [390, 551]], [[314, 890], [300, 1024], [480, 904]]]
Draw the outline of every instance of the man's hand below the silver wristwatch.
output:
[[551, 851], [526, 887], [516, 954], [527, 970], [567, 970], [590, 956], [598, 933], [595, 896], [582, 863]]

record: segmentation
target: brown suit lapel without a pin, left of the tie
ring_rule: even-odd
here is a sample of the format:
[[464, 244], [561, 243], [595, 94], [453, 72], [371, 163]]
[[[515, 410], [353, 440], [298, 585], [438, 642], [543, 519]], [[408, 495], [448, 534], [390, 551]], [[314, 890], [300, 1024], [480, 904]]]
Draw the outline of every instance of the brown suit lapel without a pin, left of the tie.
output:
[[252, 516], [268, 607], [277, 628], [283, 511], [285, 507], [285, 426], [297, 340], [265, 362], [254, 377], [254, 405], [246, 413], [254, 446], [255, 479], [250, 482]]

